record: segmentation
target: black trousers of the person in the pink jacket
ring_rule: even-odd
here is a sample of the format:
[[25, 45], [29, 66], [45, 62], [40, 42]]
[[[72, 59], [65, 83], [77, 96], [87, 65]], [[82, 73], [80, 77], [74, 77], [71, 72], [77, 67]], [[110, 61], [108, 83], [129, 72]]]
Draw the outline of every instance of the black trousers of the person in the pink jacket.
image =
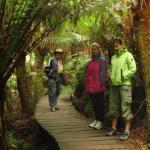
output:
[[90, 94], [95, 119], [103, 122], [105, 120], [105, 105], [104, 105], [104, 92]]

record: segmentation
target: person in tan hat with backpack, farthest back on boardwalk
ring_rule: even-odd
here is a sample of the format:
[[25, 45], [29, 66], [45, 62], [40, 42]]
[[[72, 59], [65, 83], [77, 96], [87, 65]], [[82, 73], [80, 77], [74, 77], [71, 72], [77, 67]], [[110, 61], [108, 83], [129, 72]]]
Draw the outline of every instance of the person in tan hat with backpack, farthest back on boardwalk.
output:
[[62, 54], [63, 50], [61, 48], [57, 48], [54, 52], [54, 57], [50, 58], [47, 66], [48, 100], [52, 112], [55, 112], [58, 109], [57, 99], [61, 89], [60, 75], [63, 72]]

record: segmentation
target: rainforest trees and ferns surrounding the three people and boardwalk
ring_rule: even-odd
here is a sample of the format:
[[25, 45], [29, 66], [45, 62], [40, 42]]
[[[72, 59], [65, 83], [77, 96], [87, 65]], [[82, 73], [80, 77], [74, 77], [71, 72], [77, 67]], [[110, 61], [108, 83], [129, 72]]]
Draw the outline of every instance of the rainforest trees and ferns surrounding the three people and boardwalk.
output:
[[136, 60], [132, 132], [135, 144], [148, 149], [150, 1], [0, 0], [0, 147], [23, 149], [19, 133], [34, 120], [36, 104], [46, 92], [44, 66], [57, 47], [65, 52], [66, 88], [73, 91], [73, 104], [92, 117], [83, 84], [90, 44], [99, 43], [110, 64], [116, 37], [125, 40]]

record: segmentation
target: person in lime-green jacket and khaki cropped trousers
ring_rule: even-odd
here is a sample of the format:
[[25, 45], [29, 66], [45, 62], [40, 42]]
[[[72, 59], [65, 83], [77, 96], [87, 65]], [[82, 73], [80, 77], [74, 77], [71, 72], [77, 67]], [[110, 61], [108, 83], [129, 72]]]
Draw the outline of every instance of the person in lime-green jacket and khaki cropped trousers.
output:
[[117, 122], [121, 116], [125, 120], [125, 129], [120, 139], [126, 140], [130, 137], [130, 125], [133, 118], [131, 112], [131, 79], [136, 72], [136, 63], [133, 55], [126, 49], [122, 39], [116, 39], [114, 46], [115, 55], [111, 58], [110, 67], [111, 88], [109, 102], [112, 128], [106, 135], [112, 136], [117, 133]]

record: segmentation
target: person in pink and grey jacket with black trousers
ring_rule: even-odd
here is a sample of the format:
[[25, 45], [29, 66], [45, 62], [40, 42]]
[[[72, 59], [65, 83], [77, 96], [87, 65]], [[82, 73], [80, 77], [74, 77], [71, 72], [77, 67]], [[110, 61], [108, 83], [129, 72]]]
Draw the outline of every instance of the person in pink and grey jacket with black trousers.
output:
[[90, 128], [101, 129], [105, 119], [105, 99], [107, 82], [107, 60], [102, 56], [102, 49], [98, 43], [91, 44], [91, 60], [85, 67], [85, 90], [90, 95], [95, 114], [95, 120], [89, 124]]

